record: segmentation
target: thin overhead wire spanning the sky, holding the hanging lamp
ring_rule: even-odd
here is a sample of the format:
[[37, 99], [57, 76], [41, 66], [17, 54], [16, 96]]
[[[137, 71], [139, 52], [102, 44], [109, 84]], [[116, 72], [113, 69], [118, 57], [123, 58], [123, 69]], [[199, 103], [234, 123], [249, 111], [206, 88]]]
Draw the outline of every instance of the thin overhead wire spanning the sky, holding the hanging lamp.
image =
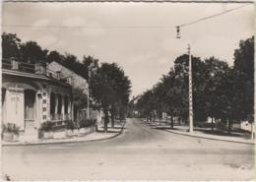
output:
[[2, 25], [2, 27], [11, 27], [11, 28], [35, 28], [35, 29], [170, 29], [170, 28], [181, 28], [181, 27], [186, 27], [186, 26], [190, 26], [193, 24], [197, 24], [199, 22], [203, 22], [215, 17], [219, 17], [222, 16], [224, 14], [227, 14], [229, 12], [244, 8], [246, 6], [249, 6], [251, 4], [246, 4], [244, 6], [239, 6], [236, 8], [232, 8], [229, 10], [226, 10], [224, 12], [209, 16], [209, 17], [204, 17], [201, 19], [198, 19], [196, 21], [192, 21], [190, 23], [186, 23], [186, 24], [182, 24], [179, 26], [106, 26], [106, 27], [90, 27], [90, 26], [29, 26], [29, 25]]

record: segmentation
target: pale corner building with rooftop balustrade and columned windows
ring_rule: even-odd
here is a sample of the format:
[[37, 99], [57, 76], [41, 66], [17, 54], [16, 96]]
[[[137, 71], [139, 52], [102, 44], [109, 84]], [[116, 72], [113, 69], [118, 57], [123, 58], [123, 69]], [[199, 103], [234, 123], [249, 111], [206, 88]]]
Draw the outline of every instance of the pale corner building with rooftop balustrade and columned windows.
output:
[[37, 137], [41, 123], [54, 127], [73, 120], [70, 80], [48, 72], [41, 63], [2, 59], [2, 121], [20, 127], [21, 134]]

